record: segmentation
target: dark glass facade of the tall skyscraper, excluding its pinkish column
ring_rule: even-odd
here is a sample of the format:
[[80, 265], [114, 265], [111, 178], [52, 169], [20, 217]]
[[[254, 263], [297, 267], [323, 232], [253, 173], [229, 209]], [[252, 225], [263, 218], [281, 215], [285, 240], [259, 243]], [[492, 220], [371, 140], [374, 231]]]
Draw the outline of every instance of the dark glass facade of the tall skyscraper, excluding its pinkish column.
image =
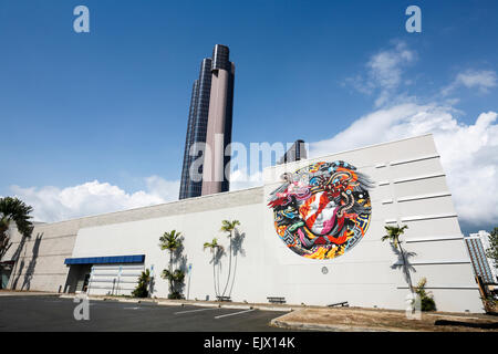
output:
[[[228, 69], [227, 69], [228, 67]], [[204, 152], [198, 143], [206, 143], [206, 133], [209, 115], [209, 101], [211, 91], [212, 72], [222, 69], [230, 73], [229, 80], [229, 96], [226, 106], [226, 128], [225, 128], [225, 146], [231, 143], [231, 121], [232, 121], [232, 105], [234, 105], [234, 71], [232, 63], [229, 62], [228, 46], [217, 44], [212, 51], [212, 59], [206, 58], [200, 65], [199, 79], [196, 80], [193, 86], [190, 97], [190, 108], [188, 113], [187, 136], [185, 139], [184, 164], [181, 168], [181, 180], [179, 199], [198, 197], [203, 192], [203, 180], [193, 180], [190, 175], [190, 167], [197, 160], [195, 167], [198, 168], [198, 176], [203, 175]], [[191, 156], [190, 152], [197, 152], [197, 155]], [[199, 160], [198, 160], [199, 159]], [[229, 164], [230, 156], [225, 158], [225, 166]], [[228, 179], [222, 183], [222, 191], [229, 189]]]

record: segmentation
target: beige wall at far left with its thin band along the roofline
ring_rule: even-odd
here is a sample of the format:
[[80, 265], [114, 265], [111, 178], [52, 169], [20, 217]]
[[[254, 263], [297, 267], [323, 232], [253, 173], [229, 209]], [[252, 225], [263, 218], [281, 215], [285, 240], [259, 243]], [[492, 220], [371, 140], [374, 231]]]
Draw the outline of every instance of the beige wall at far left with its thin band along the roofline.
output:
[[9, 289], [63, 291], [69, 273], [64, 259], [71, 257], [81, 228], [211, 210], [235, 201], [239, 205], [255, 204], [261, 198], [262, 188], [252, 188], [53, 223], [37, 223], [31, 238], [25, 239], [13, 228], [12, 244], [1, 259], [15, 261]]

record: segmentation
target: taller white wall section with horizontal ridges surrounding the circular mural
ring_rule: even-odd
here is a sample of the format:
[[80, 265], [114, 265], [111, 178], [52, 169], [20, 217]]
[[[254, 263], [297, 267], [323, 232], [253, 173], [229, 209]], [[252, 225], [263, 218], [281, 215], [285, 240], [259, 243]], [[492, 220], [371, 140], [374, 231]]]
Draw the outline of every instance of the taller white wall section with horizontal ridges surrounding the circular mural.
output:
[[[401, 269], [391, 268], [397, 257], [381, 241], [384, 226], [398, 222], [408, 225], [402, 239], [406, 240], [407, 251], [416, 253], [411, 259], [414, 284], [427, 278], [427, 290], [433, 292], [439, 310], [483, 311], [430, 135], [269, 168], [264, 171], [267, 198], [280, 185], [278, 176], [282, 173], [319, 160], [345, 160], [377, 183], [370, 194], [370, 228], [364, 239], [344, 256], [324, 261], [308, 260], [286, 250], [283, 242], [272, 238], [276, 236], [272, 212], [266, 209], [264, 233], [271, 247], [279, 249], [279, 260], [272, 268], [281, 277], [274, 277], [274, 292], [287, 294], [291, 302], [349, 301], [353, 305], [404, 309], [407, 283]], [[329, 267], [326, 275], [320, 272], [321, 266]], [[299, 285], [297, 279], [302, 279]]]

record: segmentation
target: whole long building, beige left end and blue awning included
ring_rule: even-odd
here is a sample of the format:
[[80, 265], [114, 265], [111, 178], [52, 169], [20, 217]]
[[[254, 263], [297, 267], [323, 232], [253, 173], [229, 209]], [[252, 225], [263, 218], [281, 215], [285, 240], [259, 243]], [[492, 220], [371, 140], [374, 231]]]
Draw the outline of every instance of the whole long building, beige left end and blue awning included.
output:
[[[272, 192], [282, 186], [283, 173], [338, 160], [355, 166], [356, 171], [375, 183], [366, 197], [353, 191], [356, 200], [369, 199], [365, 206], [371, 206], [369, 217], [362, 220], [364, 235], [354, 248], [335, 258], [299, 256], [277, 233], [274, 214], [268, 202], [274, 196]], [[22, 243], [18, 235], [3, 259], [15, 261], [9, 287], [73, 292], [82, 289], [93, 267], [91, 294], [126, 294], [135, 287], [142, 270], [153, 269], [153, 295], [166, 298], [168, 283], [159, 274], [167, 268], [169, 256], [159, 249], [158, 239], [165, 231], [175, 229], [185, 238], [183, 254], [186, 257], [175, 267], [191, 266], [184, 295], [212, 300], [212, 253], [204, 250], [203, 244], [216, 237], [228, 252], [228, 238], [219, 231], [221, 220], [237, 219], [240, 221], [238, 246], [231, 268], [235, 282], [227, 290], [232, 301], [268, 302], [268, 296], [283, 296], [290, 304], [326, 305], [347, 301], [353, 306], [404, 310], [408, 285], [400, 257], [387, 242], [381, 241], [384, 226], [398, 223], [408, 226], [402, 240], [404, 249], [412, 254], [408, 259], [413, 283], [427, 278], [426, 289], [434, 294], [440, 311], [483, 312], [432, 135], [278, 165], [267, 168], [263, 175], [262, 187], [38, 225], [31, 240]], [[312, 185], [314, 180], [307, 183]], [[345, 200], [350, 197], [344, 190]], [[334, 229], [338, 220], [342, 220], [339, 215], [339, 211], [334, 215]], [[350, 221], [357, 217], [351, 210], [343, 215]], [[300, 217], [303, 218], [302, 214]], [[301, 221], [308, 225], [308, 219]], [[228, 261], [224, 256], [220, 269], [215, 268], [219, 271], [221, 290]]]

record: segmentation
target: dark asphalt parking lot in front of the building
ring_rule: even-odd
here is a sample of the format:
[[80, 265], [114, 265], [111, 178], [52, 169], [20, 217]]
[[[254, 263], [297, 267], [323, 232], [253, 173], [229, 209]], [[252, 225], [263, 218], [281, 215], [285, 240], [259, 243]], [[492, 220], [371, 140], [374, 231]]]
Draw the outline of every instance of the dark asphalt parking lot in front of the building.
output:
[[79, 303], [58, 296], [0, 296], [0, 332], [283, 332], [270, 321], [284, 312], [173, 306], [90, 300], [90, 320], [74, 319]]

